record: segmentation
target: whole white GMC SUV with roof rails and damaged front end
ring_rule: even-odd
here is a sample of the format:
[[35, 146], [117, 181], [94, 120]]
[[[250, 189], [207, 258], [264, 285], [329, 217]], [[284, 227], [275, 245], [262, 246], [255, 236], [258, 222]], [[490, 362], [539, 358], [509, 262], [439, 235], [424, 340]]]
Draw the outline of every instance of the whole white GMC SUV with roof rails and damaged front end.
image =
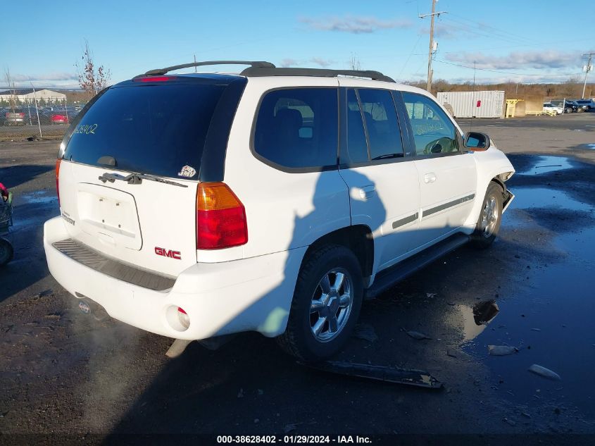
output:
[[[219, 63], [249, 68], [168, 75]], [[317, 361], [363, 299], [491, 244], [513, 173], [487, 135], [381, 73], [191, 63], [77, 116], [44, 248], [86, 311], [182, 344], [255, 330]]]

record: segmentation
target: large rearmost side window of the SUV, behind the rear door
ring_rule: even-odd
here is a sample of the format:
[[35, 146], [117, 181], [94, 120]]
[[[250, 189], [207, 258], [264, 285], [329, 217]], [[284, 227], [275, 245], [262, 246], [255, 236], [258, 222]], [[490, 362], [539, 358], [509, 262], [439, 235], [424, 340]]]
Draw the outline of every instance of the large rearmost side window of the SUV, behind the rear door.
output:
[[338, 103], [335, 88], [268, 92], [254, 130], [254, 151], [289, 168], [337, 165]]

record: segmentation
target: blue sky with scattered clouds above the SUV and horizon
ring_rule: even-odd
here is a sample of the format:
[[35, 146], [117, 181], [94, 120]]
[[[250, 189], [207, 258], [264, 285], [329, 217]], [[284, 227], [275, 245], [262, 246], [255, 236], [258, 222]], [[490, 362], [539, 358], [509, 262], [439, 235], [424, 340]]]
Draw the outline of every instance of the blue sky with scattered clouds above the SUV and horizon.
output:
[[[112, 82], [197, 60], [380, 70], [425, 80], [431, 0], [8, 1], [0, 86], [75, 87], [84, 39]], [[592, 0], [440, 0], [434, 80], [561, 82], [595, 51]], [[35, 25], [33, 25], [35, 24]], [[5, 26], [5, 30], [8, 28]], [[595, 72], [594, 72], [595, 73]], [[591, 75], [595, 81], [595, 74]]]

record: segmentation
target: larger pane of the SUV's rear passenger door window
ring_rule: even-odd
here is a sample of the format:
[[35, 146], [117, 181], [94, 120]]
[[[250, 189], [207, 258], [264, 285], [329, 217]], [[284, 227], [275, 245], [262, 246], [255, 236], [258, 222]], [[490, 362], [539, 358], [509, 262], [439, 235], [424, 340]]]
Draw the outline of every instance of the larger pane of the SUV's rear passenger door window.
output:
[[358, 89], [370, 141], [370, 159], [403, 156], [403, 142], [392, 94], [388, 90]]

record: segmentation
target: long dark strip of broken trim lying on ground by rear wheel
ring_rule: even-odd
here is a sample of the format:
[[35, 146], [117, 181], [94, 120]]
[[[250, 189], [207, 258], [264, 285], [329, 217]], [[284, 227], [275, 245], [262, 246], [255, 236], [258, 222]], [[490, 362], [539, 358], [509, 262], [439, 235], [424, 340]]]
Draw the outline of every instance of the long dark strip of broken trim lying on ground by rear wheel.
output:
[[320, 371], [337, 373], [339, 375], [356, 376], [372, 380], [384, 381], [386, 383], [414, 385], [416, 387], [441, 389], [442, 383], [430, 375], [427, 371], [397, 368], [390, 366], [374, 366], [370, 364], [358, 364], [347, 361], [322, 361], [318, 363], [303, 363], [303, 366], [316, 368]]

